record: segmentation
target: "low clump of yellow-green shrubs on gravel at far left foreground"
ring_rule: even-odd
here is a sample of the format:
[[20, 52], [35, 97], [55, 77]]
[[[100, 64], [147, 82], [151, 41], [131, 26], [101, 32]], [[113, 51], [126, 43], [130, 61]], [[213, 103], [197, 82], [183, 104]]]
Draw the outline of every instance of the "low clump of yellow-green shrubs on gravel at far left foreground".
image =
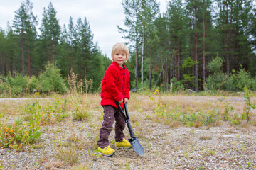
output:
[[45, 106], [38, 101], [27, 104], [24, 118], [16, 118], [14, 123], [0, 124], [0, 147], [22, 150], [25, 145], [36, 142], [41, 136], [41, 125], [67, 118], [68, 114], [63, 112], [66, 102], [63, 108], [62, 101], [56, 96]]

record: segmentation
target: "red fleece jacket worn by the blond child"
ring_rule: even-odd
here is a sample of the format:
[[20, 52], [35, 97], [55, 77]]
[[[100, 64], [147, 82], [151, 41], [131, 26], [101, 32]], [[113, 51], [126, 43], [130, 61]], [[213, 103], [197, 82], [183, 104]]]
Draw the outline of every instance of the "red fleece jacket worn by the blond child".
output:
[[[124, 98], [129, 99], [129, 78], [129, 71], [125, 66], [121, 68], [116, 62], [112, 62], [102, 79], [100, 105], [111, 105], [117, 108], [116, 101], [121, 101]], [[124, 108], [123, 103], [121, 106]]]

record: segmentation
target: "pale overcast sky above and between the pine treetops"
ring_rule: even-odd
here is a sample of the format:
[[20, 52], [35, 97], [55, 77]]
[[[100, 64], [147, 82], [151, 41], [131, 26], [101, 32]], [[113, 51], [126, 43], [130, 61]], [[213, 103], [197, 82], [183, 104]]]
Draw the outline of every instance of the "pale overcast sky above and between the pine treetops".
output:
[[[11, 23], [14, 19], [14, 11], [21, 6], [22, 0], [0, 0], [0, 27], [6, 28], [7, 21]], [[166, 11], [166, 0], [156, 0], [160, 3], [160, 11]], [[50, 0], [31, 0], [33, 3], [33, 14], [38, 16], [39, 25], [43, 15], [43, 7], [47, 8]], [[117, 25], [124, 27], [124, 11], [122, 0], [52, 0], [53, 8], [57, 11], [60, 26], [68, 26], [69, 18], [72, 16], [75, 24], [79, 17], [86, 17], [94, 34], [93, 41], [103, 54], [111, 56], [112, 46], [116, 42], [127, 42], [118, 33]]]

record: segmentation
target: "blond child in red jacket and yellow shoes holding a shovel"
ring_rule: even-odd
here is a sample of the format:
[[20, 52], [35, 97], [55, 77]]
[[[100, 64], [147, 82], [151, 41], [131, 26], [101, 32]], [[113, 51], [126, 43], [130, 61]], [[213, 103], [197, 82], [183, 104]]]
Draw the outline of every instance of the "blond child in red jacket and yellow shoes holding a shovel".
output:
[[102, 91], [100, 102], [104, 110], [102, 127], [100, 128], [100, 140], [97, 141], [98, 151], [107, 157], [114, 154], [114, 149], [110, 147], [108, 137], [115, 120], [115, 146], [130, 148], [132, 145], [124, 139], [125, 121], [119, 112], [116, 101], [124, 108], [124, 103], [129, 100], [129, 72], [124, 66], [124, 62], [129, 57], [127, 45], [117, 43], [112, 47], [112, 64], [107, 68], [102, 79]]

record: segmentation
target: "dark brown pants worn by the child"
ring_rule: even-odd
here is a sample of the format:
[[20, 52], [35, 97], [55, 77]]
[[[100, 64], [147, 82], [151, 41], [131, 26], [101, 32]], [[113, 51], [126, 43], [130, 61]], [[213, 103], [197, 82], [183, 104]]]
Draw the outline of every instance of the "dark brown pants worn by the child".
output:
[[102, 127], [100, 128], [100, 140], [97, 141], [97, 145], [101, 148], [105, 148], [110, 145], [108, 137], [113, 128], [114, 120], [115, 120], [115, 141], [120, 142], [124, 138], [124, 128], [125, 121], [119, 112], [118, 108], [114, 108], [113, 106], [103, 106], [104, 115]]

